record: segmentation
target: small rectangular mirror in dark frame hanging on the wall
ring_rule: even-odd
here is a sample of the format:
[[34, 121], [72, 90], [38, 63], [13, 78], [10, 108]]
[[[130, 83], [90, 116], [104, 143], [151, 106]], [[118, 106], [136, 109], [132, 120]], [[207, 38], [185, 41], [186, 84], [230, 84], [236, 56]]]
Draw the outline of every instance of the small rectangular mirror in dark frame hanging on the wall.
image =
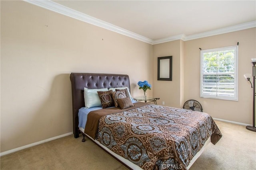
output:
[[157, 58], [157, 80], [172, 81], [172, 56]]

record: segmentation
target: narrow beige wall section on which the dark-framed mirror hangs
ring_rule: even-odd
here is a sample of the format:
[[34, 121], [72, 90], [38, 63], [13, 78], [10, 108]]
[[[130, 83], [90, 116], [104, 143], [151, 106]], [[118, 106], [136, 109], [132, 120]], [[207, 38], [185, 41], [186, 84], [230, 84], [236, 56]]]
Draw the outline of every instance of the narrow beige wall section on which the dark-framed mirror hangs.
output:
[[[170, 41], [167, 43], [161, 43], [153, 45], [153, 95], [159, 97], [160, 100], [157, 104], [165, 106], [180, 107], [180, 94], [183, 88], [181, 87], [181, 70], [182, 63], [181, 40]], [[172, 56], [172, 81], [157, 80], [157, 57]], [[182, 90], [181, 90], [182, 89]]]

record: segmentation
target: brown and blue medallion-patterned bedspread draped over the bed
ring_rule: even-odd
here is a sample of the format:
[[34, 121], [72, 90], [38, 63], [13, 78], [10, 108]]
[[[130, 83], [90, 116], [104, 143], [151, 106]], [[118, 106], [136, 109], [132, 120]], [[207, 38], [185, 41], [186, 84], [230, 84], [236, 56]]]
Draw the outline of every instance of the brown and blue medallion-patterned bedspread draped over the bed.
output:
[[210, 115], [146, 105], [100, 118], [96, 139], [145, 170], [186, 169], [206, 140], [222, 137]]

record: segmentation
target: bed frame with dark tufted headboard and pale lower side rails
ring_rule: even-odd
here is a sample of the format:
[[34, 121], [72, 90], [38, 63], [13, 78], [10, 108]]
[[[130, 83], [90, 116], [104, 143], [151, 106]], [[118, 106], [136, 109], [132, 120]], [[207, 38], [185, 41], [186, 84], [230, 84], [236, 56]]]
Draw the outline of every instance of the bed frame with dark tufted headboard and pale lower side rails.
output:
[[[71, 88], [72, 88], [72, 110], [73, 110], [73, 134], [75, 138], [79, 137], [79, 134], [86, 135], [78, 128], [78, 110], [84, 107], [84, 87], [89, 89], [95, 88], [116, 88], [116, 87], [128, 87], [130, 90], [129, 76], [126, 74], [103, 74], [103, 73], [71, 73]], [[122, 158], [118, 154], [108, 150], [104, 145], [101, 145], [98, 141], [93, 140], [90, 136], [86, 135], [96, 145], [105, 150], [108, 154], [113, 156], [116, 160], [122, 163], [130, 170], [141, 169], [139, 166], [131, 163], [130, 161]], [[83, 141], [83, 140], [82, 140]], [[98, 143], [97, 143], [98, 142]], [[189, 169], [196, 159], [202, 154], [203, 150], [210, 143], [210, 138], [206, 141], [202, 149], [194, 156], [190, 161], [187, 169]]]

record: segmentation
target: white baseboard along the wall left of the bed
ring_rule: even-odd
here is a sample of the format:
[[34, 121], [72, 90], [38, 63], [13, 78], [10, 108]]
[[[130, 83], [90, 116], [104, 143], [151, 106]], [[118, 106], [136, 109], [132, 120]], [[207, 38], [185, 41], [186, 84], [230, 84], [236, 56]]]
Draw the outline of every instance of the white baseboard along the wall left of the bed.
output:
[[66, 137], [66, 136], [72, 135], [72, 134], [73, 134], [73, 132], [70, 132], [70, 133], [66, 133], [66, 134], [63, 134], [63, 135], [56, 136], [56, 137], [51, 137], [51, 138], [49, 138], [49, 139], [45, 139], [45, 140], [42, 140], [42, 141], [38, 141], [38, 142], [35, 142], [35, 143], [31, 143], [31, 144], [25, 145], [25, 146], [23, 146], [23, 147], [18, 147], [18, 148], [15, 148], [15, 149], [7, 150], [7, 151], [5, 151], [5, 152], [1, 152], [1, 153], [0, 153], [0, 156], [4, 156], [4, 155], [10, 154], [10, 153], [12, 153], [12, 152], [17, 152], [17, 151], [19, 151], [19, 150], [26, 149], [26, 148], [29, 148], [29, 147], [34, 147], [34, 146], [36, 146], [36, 145], [39, 145], [39, 144], [42, 144], [42, 143], [46, 143], [46, 142], [49, 142], [49, 141], [53, 141], [53, 140], [55, 140], [55, 139], [59, 139], [59, 138], [62, 138], [62, 137]]

